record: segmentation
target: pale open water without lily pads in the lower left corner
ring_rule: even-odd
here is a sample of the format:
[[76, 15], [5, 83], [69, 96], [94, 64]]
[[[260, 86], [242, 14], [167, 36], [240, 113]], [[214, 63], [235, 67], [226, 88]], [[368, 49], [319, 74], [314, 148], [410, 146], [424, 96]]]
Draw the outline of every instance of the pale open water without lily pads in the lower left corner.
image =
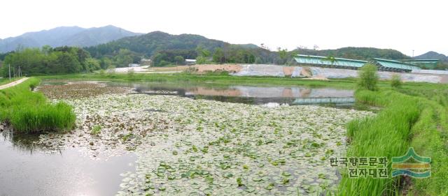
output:
[[120, 174], [135, 169], [132, 154], [92, 160], [79, 148], [37, 144], [38, 137], [1, 132], [0, 195], [115, 195]]

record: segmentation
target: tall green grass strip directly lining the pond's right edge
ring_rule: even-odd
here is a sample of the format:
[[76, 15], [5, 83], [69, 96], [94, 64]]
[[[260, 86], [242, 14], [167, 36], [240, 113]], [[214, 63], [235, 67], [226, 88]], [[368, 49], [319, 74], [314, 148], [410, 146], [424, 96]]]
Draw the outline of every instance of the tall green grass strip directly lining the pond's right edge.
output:
[[[347, 126], [351, 138], [348, 157], [387, 157], [405, 154], [409, 147], [409, 133], [420, 113], [416, 98], [394, 91], [357, 91], [362, 103], [384, 107], [377, 116], [351, 121]], [[391, 171], [391, 163], [387, 165]], [[351, 179], [343, 174], [339, 195], [394, 195], [396, 179], [372, 177]]]

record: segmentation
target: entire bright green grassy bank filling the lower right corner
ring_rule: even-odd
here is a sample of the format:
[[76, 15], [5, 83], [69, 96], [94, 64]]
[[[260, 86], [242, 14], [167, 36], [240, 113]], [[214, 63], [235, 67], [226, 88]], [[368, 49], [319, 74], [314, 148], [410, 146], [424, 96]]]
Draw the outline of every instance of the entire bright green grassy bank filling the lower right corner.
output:
[[[413, 179], [409, 195], [448, 195], [448, 86], [407, 84], [402, 89], [360, 90], [356, 99], [384, 107], [370, 119], [351, 121], [347, 156], [402, 156], [412, 146], [421, 156], [432, 158], [431, 176]], [[391, 163], [388, 163], [391, 172]], [[401, 195], [400, 178], [350, 179], [344, 174], [339, 195]]]

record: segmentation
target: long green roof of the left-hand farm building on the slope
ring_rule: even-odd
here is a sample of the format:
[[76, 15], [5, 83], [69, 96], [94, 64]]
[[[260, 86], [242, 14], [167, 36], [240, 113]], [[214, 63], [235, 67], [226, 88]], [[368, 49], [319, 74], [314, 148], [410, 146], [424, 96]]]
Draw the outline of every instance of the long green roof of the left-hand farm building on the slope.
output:
[[316, 65], [325, 65], [325, 66], [344, 66], [344, 67], [355, 67], [360, 68], [367, 63], [367, 61], [353, 60], [353, 59], [342, 59], [342, 58], [334, 58], [335, 61], [330, 61], [325, 56], [313, 56], [313, 55], [302, 55], [299, 54], [295, 58], [297, 63], [304, 64], [316, 64]]

